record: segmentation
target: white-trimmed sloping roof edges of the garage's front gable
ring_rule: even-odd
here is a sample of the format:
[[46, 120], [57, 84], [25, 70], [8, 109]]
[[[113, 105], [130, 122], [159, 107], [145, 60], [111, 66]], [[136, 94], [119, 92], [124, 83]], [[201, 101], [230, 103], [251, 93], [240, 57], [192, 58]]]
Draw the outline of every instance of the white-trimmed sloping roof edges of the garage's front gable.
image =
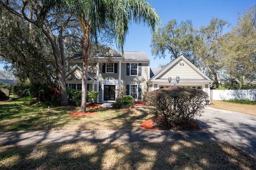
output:
[[164, 66], [160, 70], [158, 70], [158, 73], [154, 74], [154, 76], [151, 77], [148, 80], [148, 82], [150, 82], [151, 80], [156, 80], [156, 79], [160, 78], [167, 70], [172, 68], [172, 66], [175, 66], [176, 64], [178, 64], [181, 60], [186, 62], [186, 64], [188, 64], [193, 70], [195, 70], [200, 76], [202, 76], [202, 78], [204, 78], [205, 80], [212, 81], [204, 73], [202, 73], [198, 68], [196, 68], [196, 66], [194, 66], [194, 64], [190, 63], [190, 61], [188, 61], [188, 59], [186, 59], [183, 55], [181, 55], [174, 61], [170, 62], [169, 64], [166, 64], [166, 66]]

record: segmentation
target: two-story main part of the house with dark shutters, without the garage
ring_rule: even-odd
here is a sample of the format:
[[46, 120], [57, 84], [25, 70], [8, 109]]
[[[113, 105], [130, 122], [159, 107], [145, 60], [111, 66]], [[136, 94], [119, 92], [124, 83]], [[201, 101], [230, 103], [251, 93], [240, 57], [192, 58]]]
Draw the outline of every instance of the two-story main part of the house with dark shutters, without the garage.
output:
[[[67, 58], [68, 87], [82, 90], [82, 53]], [[144, 52], [124, 51], [123, 55], [108, 46], [95, 56], [88, 67], [88, 90], [98, 91], [98, 101], [113, 102], [115, 89], [126, 88], [126, 94], [135, 101], [142, 100], [142, 92], [148, 89], [150, 59]]]

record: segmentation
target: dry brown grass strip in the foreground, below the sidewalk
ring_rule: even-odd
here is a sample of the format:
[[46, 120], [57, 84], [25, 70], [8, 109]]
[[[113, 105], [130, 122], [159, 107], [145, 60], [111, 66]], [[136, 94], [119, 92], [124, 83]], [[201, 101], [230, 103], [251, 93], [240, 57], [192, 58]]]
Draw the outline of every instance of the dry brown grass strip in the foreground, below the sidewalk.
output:
[[[37, 148], [37, 152], [33, 149]], [[8, 155], [9, 156], [2, 156]], [[244, 169], [256, 158], [228, 143], [80, 143], [0, 147], [0, 169]]]

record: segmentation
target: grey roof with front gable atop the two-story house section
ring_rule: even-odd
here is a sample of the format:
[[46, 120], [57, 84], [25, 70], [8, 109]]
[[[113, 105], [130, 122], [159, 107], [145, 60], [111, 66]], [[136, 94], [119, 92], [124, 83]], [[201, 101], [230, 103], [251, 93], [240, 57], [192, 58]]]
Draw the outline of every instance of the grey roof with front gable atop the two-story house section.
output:
[[[109, 56], [109, 54], [111, 56]], [[103, 51], [99, 52], [98, 54], [95, 55], [97, 58], [105, 58], [105, 57], [114, 57], [114, 58], [123, 58], [125, 60], [142, 60], [142, 61], [150, 61], [148, 58], [148, 55], [146, 55], [145, 52], [140, 52], [140, 51], [124, 51], [124, 56], [122, 56], [122, 52], [116, 51], [113, 49], [111, 46], [108, 45]], [[74, 54], [73, 56], [67, 57], [66, 60], [83, 60], [82, 52], [78, 52]]]

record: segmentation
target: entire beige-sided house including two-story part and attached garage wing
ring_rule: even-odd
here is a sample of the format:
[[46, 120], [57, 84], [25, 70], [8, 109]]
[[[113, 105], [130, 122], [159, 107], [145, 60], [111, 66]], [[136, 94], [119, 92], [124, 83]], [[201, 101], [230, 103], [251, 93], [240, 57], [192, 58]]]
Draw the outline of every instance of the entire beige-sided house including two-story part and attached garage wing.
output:
[[[210, 80], [183, 56], [163, 68], [151, 68], [150, 59], [144, 52], [122, 53], [108, 46], [92, 59], [88, 66], [88, 90], [98, 91], [98, 101], [116, 100], [116, 88], [126, 88], [126, 94], [134, 101], [141, 101], [142, 92], [173, 85], [168, 78], [180, 77], [179, 86], [202, 89], [210, 94]], [[67, 87], [82, 90], [82, 53], [67, 58]], [[174, 84], [175, 85], [175, 84]], [[98, 102], [97, 101], [97, 102]]]

